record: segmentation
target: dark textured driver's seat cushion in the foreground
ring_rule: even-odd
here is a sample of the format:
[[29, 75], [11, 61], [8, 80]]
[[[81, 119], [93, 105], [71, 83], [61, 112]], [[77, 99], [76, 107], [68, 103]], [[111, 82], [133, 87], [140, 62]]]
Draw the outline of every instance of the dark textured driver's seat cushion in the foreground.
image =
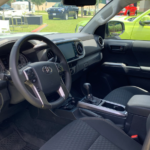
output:
[[141, 150], [121, 129], [101, 118], [73, 121], [40, 150]]

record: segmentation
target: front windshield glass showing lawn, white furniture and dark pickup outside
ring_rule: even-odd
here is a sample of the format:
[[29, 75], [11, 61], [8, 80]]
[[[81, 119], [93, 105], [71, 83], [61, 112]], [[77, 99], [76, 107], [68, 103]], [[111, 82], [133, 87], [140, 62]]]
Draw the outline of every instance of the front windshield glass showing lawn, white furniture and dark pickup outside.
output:
[[[40, 3], [39, 3], [40, 1]], [[58, 0], [57, 0], [58, 1]], [[0, 6], [0, 38], [25, 33], [58, 34], [80, 32], [110, 0], [95, 6], [64, 6], [51, 0], [9, 0]]]

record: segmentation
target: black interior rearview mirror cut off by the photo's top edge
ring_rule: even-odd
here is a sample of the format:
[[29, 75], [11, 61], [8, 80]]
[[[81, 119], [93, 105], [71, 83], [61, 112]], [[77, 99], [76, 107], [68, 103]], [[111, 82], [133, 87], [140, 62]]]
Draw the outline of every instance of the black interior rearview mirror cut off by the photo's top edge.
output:
[[95, 5], [96, 0], [62, 0], [64, 5], [76, 5], [76, 6], [85, 6], [85, 5]]

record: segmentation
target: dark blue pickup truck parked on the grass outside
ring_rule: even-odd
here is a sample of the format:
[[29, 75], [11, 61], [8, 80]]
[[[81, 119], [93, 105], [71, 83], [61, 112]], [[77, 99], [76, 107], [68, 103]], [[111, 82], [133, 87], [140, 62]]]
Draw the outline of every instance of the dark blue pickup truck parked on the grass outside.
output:
[[47, 10], [49, 19], [61, 18], [68, 20], [69, 17], [78, 18], [79, 8], [76, 6], [65, 6], [62, 3], [56, 3]]

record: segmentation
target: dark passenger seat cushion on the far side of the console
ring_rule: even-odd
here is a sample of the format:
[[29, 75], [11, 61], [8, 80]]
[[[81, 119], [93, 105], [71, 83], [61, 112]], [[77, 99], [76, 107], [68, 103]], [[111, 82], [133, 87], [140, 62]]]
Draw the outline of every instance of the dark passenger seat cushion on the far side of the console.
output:
[[113, 90], [104, 99], [126, 106], [134, 95], [150, 95], [150, 93], [136, 86], [124, 86]]

